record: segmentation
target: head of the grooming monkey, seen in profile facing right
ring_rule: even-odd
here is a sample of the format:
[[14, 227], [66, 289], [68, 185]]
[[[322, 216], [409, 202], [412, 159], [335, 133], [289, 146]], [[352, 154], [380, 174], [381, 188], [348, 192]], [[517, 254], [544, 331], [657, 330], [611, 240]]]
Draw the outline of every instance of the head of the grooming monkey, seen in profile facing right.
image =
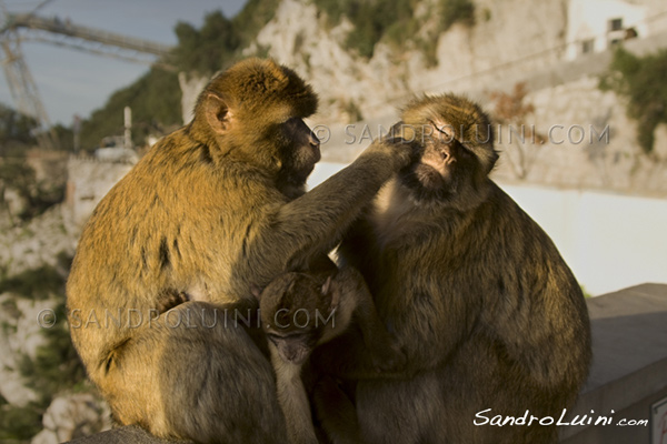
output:
[[319, 140], [303, 122], [316, 111], [316, 93], [296, 72], [252, 58], [209, 82], [189, 134], [208, 147], [212, 161], [230, 157], [302, 185], [320, 159]]

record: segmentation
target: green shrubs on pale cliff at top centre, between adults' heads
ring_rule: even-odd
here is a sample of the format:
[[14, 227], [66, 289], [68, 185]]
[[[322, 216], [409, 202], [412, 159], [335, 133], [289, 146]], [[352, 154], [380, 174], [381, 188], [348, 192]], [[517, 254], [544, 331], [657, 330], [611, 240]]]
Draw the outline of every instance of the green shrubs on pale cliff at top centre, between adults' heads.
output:
[[418, 2], [415, 0], [313, 0], [327, 13], [330, 26], [338, 24], [347, 17], [355, 28], [347, 37], [346, 46], [360, 56], [372, 57], [375, 46], [385, 39], [390, 44], [405, 48], [414, 41], [420, 48], [429, 64], [436, 64], [438, 37], [456, 22], [472, 24], [475, 4], [470, 0], [439, 0], [436, 10], [427, 17], [439, 18], [438, 26], [425, 38], [415, 40], [425, 18], [415, 17]]

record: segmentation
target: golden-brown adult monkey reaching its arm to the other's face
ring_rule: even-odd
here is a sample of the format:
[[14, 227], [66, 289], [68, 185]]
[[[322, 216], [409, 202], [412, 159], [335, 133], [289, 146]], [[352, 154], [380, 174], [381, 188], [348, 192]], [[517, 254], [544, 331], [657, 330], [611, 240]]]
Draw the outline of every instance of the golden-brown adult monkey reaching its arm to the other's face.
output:
[[120, 423], [202, 443], [286, 438], [271, 365], [238, 322], [257, 307], [248, 289], [329, 251], [411, 155], [378, 141], [301, 195], [320, 158], [302, 121], [316, 107], [290, 69], [241, 61], [98, 204], [68, 281], [69, 321]]

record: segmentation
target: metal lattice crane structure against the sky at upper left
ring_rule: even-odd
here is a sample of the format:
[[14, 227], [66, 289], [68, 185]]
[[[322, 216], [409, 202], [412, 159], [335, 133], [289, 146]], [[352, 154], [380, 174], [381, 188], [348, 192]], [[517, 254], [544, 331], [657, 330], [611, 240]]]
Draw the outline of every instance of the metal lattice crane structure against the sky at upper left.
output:
[[[0, 47], [4, 53], [2, 68], [19, 112], [34, 118], [41, 130], [37, 138], [42, 149], [57, 148], [58, 139], [37, 84], [23, 59], [21, 41], [41, 41], [99, 56], [173, 69], [166, 62], [171, 51], [169, 46], [82, 27], [70, 20], [36, 16], [36, 12], [50, 1], [52, 0], [42, 1], [29, 13], [12, 14], [8, 12], [4, 1], [0, 0]], [[159, 60], [157, 63], [156, 58]]]

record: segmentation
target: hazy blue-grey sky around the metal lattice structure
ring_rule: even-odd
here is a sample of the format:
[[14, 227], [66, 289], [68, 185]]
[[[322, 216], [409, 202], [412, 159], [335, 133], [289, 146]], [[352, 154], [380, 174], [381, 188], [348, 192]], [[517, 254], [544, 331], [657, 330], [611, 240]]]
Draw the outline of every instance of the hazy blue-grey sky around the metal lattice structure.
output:
[[[30, 12], [41, 0], [4, 0], [10, 13]], [[199, 28], [203, 16], [221, 9], [235, 16], [246, 0], [51, 0], [40, 17], [58, 16], [72, 23], [129, 37], [176, 44], [173, 27], [186, 21]], [[52, 123], [70, 125], [73, 114], [88, 117], [115, 90], [126, 87], [148, 65], [90, 54], [49, 43], [21, 46]], [[0, 102], [17, 108], [4, 72], [0, 74]]]

